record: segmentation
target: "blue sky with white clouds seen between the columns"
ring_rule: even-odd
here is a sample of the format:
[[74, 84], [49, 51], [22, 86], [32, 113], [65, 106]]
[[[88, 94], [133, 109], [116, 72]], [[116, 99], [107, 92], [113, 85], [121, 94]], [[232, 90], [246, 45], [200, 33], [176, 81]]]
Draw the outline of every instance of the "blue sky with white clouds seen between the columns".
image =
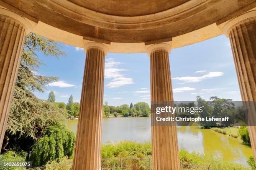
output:
[[[47, 86], [44, 93], [36, 96], [47, 100], [52, 90], [56, 102], [67, 103], [72, 94], [80, 101], [84, 72], [83, 49], [61, 44], [67, 57], [44, 57], [46, 64], [37, 74], [59, 77], [58, 82]], [[172, 49], [169, 54], [174, 100], [195, 100], [200, 95], [241, 100], [230, 42], [224, 35], [193, 45]], [[109, 105], [147, 102], [150, 104], [149, 57], [146, 53], [108, 53], [105, 61], [104, 101]]]

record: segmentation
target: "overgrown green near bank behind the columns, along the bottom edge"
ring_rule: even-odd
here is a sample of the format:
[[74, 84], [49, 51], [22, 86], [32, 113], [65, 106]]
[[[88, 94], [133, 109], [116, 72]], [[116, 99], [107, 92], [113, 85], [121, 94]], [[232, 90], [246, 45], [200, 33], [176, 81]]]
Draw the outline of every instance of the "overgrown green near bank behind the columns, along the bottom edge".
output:
[[[223, 161], [214, 155], [189, 153], [182, 149], [179, 151], [182, 170], [251, 170], [243, 165]], [[122, 160], [121, 160], [122, 159]], [[106, 143], [102, 145], [102, 168], [115, 168], [120, 170], [148, 170], [152, 167], [151, 143], [137, 143], [123, 141], [119, 143]], [[52, 161], [47, 163], [46, 170], [70, 170], [72, 159], [64, 157], [60, 163]]]

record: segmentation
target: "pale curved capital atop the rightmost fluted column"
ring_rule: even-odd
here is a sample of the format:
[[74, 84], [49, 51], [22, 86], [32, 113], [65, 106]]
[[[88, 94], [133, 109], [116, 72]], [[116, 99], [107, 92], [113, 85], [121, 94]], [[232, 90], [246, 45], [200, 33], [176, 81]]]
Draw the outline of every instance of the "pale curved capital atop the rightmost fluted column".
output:
[[242, 15], [237, 16], [236, 18], [232, 18], [231, 20], [226, 21], [218, 25], [218, 28], [223, 31], [223, 33], [228, 37], [228, 34], [232, 28], [236, 25], [246, 22], [247, 20], [256, 19], [256, 8], [253, 10], [249, 10]]

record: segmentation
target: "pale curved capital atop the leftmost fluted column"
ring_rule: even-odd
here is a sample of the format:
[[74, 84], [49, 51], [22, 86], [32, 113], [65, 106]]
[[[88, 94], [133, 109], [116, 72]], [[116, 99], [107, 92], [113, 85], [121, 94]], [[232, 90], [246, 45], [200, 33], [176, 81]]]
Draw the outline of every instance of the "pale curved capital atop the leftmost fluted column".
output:
[[37, 23], [34, 23], [33, 21], [30, 21], [30, 20], [28, 20], [18, 14], [15, 14], [12, 11], [0, 6], [0, 17], [1, 16], [4, 16], [11, 20], [14, 20], [14, 21], [20, 23], [21, 25], [23, 25], [24, 28], [26, 29], [26, 35], [28, 35], [33, 30], [33, 28], [35, 28], [37, 25]]

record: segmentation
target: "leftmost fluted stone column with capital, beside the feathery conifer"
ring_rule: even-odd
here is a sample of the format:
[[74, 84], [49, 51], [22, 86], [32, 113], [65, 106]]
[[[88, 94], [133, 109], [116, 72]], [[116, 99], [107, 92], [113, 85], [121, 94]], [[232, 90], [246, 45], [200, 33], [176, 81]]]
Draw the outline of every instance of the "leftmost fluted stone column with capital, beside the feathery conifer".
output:
[[24, 38], [31, 29], [32, 25], [28, 20], [0, 8], [0, 148], [5, 135]]

